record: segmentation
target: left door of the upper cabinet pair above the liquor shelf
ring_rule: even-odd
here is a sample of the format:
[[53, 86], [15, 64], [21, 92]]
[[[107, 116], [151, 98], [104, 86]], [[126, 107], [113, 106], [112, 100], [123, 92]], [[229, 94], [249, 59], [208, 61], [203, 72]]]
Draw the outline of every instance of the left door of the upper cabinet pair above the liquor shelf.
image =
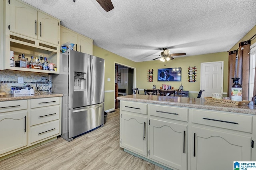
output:
[[16, 0], [10, 3], [10, 31], [37, 38], [37, 10]]

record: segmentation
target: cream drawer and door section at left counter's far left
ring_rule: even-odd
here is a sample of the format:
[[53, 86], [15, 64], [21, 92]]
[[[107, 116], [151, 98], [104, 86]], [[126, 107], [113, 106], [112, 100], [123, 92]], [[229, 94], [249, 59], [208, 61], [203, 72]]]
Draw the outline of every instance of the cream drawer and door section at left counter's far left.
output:
[[27, 145], [27, 100], [0, 102], [0, 155]]

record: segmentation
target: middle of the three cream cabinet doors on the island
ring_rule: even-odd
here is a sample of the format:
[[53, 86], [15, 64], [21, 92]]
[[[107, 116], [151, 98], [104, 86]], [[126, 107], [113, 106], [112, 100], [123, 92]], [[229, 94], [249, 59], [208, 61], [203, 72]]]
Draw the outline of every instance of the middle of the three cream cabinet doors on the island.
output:
[[150, 119], [149, 157], [179, 170], [186, 170], [187, 127]]

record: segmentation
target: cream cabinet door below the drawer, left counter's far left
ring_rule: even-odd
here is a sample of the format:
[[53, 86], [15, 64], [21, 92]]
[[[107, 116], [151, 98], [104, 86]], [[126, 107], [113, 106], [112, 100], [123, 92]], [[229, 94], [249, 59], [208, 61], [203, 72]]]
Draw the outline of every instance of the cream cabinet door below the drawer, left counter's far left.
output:
[[0, 114], [0, 154], [27, 145], [27, 111]]

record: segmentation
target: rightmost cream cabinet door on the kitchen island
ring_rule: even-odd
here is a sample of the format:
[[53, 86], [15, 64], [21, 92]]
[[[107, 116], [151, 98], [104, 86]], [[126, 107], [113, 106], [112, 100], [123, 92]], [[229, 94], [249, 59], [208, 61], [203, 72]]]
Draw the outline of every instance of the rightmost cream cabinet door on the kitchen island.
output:
[[191, 170], [228, 170], [233, 161], [251, 161], [251, 137], [192, 127]]

